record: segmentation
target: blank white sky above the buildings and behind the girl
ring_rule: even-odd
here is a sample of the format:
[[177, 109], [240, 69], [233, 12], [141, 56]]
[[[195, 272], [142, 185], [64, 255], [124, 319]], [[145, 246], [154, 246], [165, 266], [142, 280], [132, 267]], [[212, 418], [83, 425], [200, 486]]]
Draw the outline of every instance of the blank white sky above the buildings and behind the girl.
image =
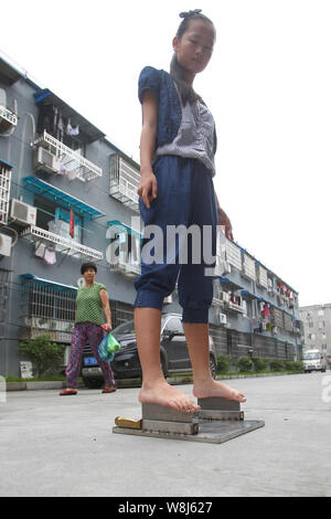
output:
[[194, 88], [216, 121], [234, 240], [300, 306], [331, 303], [330, 0], [11, 0], [0, 51], [139, 161], [139, 73], [169, 71], [179, 13], [197, 8], [217, 35]]

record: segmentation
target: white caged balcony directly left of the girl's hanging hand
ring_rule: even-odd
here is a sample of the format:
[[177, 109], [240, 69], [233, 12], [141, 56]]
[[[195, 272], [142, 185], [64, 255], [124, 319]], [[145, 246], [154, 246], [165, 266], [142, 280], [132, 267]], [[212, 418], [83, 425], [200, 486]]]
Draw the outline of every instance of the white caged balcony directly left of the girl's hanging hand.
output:
[[111, 155], [109, 194], [136, 212], [139, 212], [139, 166], [120, 153]]

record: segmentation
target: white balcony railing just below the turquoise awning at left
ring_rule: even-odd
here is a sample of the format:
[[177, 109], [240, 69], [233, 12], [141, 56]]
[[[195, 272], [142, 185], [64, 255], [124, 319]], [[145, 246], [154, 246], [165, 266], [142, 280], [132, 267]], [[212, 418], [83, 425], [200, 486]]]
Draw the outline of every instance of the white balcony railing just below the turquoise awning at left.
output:
[[94, 248], [82, 245], [81, 243], [74, 242], [70, 239], [60, 236], [58, 234], [51, 233], [44, 229], [36, 227], [31, 225], [26, 227], [21, 236], [30, 236], [32, 241], [40, 243], [49, 243], [55, 246], [55, 251], [66, 253], [68, 255], [78, 254], [81, 257], [92, 258], [92, 260], [103, 260], [103, 253], [95, 251]]

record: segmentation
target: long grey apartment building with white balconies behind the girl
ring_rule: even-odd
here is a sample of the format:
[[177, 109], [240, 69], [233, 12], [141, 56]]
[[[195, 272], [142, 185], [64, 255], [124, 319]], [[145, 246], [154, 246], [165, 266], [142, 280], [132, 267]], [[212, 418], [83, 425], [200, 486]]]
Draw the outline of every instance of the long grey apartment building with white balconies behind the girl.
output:
[[[138, 183], [137, 162], [0, 56], [0, 374], [19, 374], [21, 339], [70, 345], [85, 261], [97, 264], [114, 326], [132, 317]], [[213, 283], [218, 353], [300, 358], [298, 292], [281, 276], [220, 235]], [[164, 311], [181, 313], [177, 290]]]

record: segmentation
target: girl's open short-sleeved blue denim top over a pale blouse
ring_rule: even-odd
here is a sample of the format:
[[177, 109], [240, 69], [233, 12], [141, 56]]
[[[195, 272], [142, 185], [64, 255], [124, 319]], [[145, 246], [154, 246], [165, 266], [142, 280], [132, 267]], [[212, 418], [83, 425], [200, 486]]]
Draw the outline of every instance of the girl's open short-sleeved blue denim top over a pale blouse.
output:
[[[146, 66], [142, 68], [138, 82], [138, 97], [142, 104], [145, 91], [150, 89], [157, 96], [159, 103], [159, 127], [157, 135], [157, 147], [172, 142], [178, 136], [181, 120], [182, 106], [173, 78], [168, 72]], [[214, 153], [216, 152], [217, 139], [214, 131]]]

